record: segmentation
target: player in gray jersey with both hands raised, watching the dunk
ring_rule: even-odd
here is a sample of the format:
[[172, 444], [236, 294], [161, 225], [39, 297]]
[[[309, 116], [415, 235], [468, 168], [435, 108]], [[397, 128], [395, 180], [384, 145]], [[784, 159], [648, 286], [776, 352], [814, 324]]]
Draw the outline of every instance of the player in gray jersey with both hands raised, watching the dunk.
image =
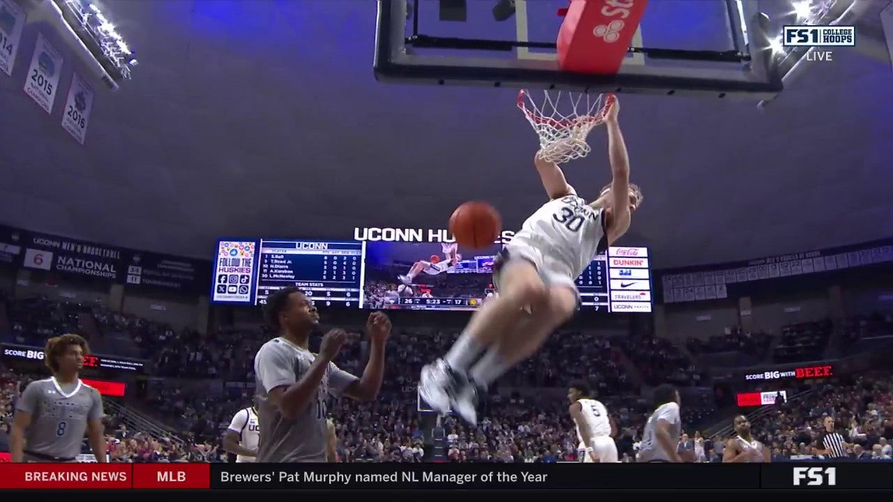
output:
[[326, 400], [329, 395], [362, 401], [378, 396], [391, 329], [388, 316], [380, 312], [369, 316], [369, 363], [361, 378], [332, 363], [346, 341], [344, 330], [326, 333], [319, 354], [308, 350], [310, 332], [320, 316], [299, 289], [284, 288], [270, 295], [264, 318], [280, 336], [263, 344], [255, 356], [261, 425], [257, 462], [326, 462]]

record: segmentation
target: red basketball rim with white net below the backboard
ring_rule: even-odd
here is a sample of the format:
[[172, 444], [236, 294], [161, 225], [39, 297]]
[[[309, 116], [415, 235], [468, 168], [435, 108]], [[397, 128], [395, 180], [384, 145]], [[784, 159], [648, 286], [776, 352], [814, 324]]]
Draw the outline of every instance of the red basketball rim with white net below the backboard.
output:
[[613, 103], [612, 94], [588, 95], [581, 92], [544, 90], [541, 100], [530, 91], [518, 93], [518, 108], [539, 137], [540, 158], [566, 163], [589, 154], [586, 137], [605, 122]]

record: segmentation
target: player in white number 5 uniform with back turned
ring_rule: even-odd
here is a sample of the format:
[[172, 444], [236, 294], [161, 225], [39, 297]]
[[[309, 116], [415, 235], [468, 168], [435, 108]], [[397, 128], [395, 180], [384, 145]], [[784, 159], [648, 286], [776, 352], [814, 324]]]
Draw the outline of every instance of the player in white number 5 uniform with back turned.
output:
[[585, 381], [573, 381], [567, 398], [571, 400], [568, 411], [577, 425], [580, 447], [577, 456], [580, 462], [616, 463], [617, 444], [613, 436], [617, 425], [608, 415], [601, 401], [589, 397], [589, 386]]

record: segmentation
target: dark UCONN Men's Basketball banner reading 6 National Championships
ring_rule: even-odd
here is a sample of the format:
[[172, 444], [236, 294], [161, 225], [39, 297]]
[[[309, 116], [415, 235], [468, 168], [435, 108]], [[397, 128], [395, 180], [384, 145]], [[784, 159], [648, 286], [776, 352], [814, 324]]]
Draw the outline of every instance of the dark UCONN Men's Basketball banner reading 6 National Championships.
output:
[[48, 234], [31, 233], [29, 237], [25, 244], [25, 268], [101, 280], [121, 280], [121, 249]]

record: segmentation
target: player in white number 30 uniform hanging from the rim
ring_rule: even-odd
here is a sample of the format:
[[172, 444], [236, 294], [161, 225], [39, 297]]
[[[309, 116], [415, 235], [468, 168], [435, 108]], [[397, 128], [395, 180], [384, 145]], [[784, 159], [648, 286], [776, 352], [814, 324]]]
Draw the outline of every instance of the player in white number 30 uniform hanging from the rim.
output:
[[605, 124], [613, 181], [587, 203], [557, 164], [534, 157], [549, 202], [523, 223], [494, 261], [499, 295], [472, 316], [446, 356], [421, 371], [421, 397], [439, 413], [447, 413], [452, 403], [463, 419], [476, 423], [479, 389], [532, 356], [571, 318], [580, 302], [575, 280], [630, 228], [642, 194], [630, 184], [630, 161], [617, 123], [620, 107], [612, 99]]

